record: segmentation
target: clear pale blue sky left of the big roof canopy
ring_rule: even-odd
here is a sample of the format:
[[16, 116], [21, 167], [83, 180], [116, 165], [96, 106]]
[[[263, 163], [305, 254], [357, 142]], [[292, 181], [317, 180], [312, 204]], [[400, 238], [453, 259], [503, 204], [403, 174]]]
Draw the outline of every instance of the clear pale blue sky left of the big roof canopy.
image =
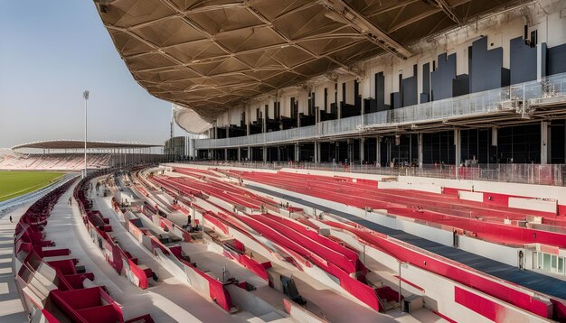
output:
[[90, 139], [163, 143], [169, 136], [170, 103], [137, 84], [92, 1], [3, 1], [0, 148], [82, 139], [86, 88]]

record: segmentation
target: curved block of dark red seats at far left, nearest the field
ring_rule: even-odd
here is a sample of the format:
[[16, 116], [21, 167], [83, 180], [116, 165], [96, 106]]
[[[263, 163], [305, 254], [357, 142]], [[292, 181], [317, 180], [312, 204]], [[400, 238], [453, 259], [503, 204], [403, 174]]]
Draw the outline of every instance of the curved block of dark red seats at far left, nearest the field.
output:
[[[42, 233], [53, 206], [73, 180], [46, 194], [29, 208], [15, 228], [14, 273], [24, 309], [33, 321], [124, 322], [122, 309], [94, 275], [73, 258], [46, 261], [44, 257], [70, 255], [69, 249], [44, 249], [54, 245]], [[149, 315], [127, 322], [153, 322]]]

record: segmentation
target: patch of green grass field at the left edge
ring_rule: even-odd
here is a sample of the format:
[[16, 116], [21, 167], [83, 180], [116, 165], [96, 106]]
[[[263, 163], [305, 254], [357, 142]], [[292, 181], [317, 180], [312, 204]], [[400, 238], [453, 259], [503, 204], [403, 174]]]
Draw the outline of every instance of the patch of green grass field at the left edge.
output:
[[55, 171], [0, 171], [0, 201], [42, 189], [63, 175]]

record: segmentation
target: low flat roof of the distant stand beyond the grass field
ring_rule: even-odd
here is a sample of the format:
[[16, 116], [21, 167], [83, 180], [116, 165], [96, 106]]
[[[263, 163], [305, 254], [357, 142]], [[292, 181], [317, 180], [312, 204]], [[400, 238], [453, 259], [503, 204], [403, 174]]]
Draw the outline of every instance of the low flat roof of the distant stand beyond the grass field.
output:
[[[113, 149], [113, 148], [150, 148], [159, 147], [161, 144], [152, 143], [115, 143], [115, 142], [87, 142], [87, 149]], [[84, 149], [84, 141], [80, 140], [49, 140], [18, 144], [11, 149], [36, 148], [36, 149]]]

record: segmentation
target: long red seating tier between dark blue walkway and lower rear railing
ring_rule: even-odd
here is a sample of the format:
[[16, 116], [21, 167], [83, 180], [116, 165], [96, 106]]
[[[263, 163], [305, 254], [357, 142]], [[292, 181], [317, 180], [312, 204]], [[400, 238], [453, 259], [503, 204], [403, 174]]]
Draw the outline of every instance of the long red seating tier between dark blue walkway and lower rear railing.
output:
[[[279, 171], [277, 176], [262, 172], [244, 172], [246, 180], [269, 184], [316, 198], [325, 198], [356, 208], [384, 209], [395, 216], [456, 230], [459, 234], [507, 245], [543, 244], [566, 247], [566, 235], [503, 224], [505, 218], [521, 219], [536, 211], [507, 208], [416, 190], [376, 189], [367, 181], [349, 178], [295, 174]], [[477, 217], [492, 221], [478, 221]], [[494, 222], [495, 221], [495, 222]]]

